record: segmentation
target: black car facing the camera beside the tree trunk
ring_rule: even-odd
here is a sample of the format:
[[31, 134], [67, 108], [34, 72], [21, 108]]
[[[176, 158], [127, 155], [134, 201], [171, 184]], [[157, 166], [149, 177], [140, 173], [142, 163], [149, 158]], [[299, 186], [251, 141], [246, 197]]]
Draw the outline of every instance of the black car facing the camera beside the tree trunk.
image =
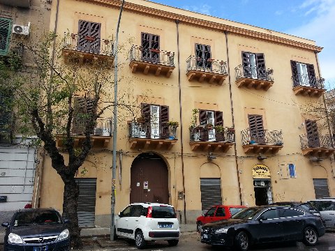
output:
[[6, 227], [3, 251], [67, 251], [70, 246], [67, 222], [52, 208], [17, 211], [10, 222], [1, 224]]

